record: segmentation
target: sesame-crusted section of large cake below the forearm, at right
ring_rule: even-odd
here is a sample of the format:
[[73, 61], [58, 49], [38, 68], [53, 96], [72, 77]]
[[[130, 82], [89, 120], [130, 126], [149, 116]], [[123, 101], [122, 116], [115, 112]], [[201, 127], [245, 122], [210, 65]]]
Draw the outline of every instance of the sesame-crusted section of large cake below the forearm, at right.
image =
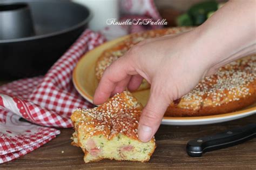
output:
[[237, 111], [256, 102], [256, 55], [207, 77], [167, 108], [165, 116], [201, 116]]

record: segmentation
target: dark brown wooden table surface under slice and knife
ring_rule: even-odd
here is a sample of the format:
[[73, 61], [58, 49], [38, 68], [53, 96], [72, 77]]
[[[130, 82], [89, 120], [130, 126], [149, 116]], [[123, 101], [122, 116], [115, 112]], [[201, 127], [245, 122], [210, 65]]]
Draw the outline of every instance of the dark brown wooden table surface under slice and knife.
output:
[[0, 169], [256, 169], [256, 138], [205, 153], [201, 158], [189, 157], [185, 149], [188, 140], [254, 123], [255, 120], [256, 114], [212, 125], [161, 125], [156, 134], [156, 151], [150, 161], [144, 163], [101, 160], [84, 164], [82, 150], [70, 145], [72, 128], [60, 129], [57, 138], [17, 160], [0, 165]]

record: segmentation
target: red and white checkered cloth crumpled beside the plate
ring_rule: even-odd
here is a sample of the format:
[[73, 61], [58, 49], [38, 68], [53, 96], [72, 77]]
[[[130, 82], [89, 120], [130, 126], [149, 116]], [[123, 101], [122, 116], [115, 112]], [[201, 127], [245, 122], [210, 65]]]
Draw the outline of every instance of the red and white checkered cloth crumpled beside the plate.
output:
[[[127, 9], [123, 11], [127, 13], [159, 18], [152, 0], [122, 2], [121, 6], [126, 3]], [[136, 12], [138, 10], [139, 13]], [[111, 31], [117, 35], [122, 35], [117, 30], [123, 31], [120, 28], [106, 30], [102, 32], [106, 37], [111, 36]], [[125, 34], [134, 32], [136, 26], [125, 30]], [[142, 30], [143, 26], [137, 29]], [[105, 36], [85, 30], [44, 77], [21, 79], [0, 87], [0, 164], [29, 153], [55, 138], [60, 132], [51, 127], [72, 127], [70, 115], [76, 108], [93, 106], [75, 90], [71, 81], [72, 70], [85, 52], [105, 41]], [[20, 118], [33, 124], [20, 121]]]

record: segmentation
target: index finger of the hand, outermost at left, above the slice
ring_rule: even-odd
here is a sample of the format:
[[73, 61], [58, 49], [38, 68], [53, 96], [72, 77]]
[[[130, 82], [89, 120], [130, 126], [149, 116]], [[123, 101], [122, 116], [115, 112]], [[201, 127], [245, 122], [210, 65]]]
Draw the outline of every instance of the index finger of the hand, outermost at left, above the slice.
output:
[[126, 56], [118, 58], [104, 71], [95, 91], [93, 103], [96, 105], [104, 103], [109, 99], [116, 84], [132, 74], [136, 74], [136, 71], [131, 58]]

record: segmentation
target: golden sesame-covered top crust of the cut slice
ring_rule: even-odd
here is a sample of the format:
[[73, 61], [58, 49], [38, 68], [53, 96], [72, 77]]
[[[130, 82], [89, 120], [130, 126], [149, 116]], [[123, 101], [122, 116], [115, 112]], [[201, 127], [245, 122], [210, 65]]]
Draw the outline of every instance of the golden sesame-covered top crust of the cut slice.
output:
[[77, 124], [87, 126], [87, 138], [97, 133], [111, 139], [116, 133], [125, 133], [129, 137], [138, 139], [138, 119], [142, 112], [142, 105], [131, 97], [130, 92], [116, 94], [107, 103], [86, 110], [78, 108], [72, 115], [79, 121]]

